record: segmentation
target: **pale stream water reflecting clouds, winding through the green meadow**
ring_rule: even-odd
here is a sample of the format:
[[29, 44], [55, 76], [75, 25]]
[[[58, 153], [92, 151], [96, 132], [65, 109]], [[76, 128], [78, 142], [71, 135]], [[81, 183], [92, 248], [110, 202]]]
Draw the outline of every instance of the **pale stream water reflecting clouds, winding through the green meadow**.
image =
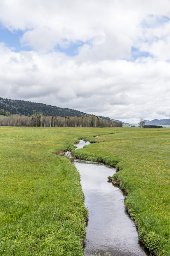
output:
[[[89, 142], [80, 141], [77, 148]], [[149, 255], [138, 243], [138, 233], [125, 211], [122, 191], [107, 182], [115, 173], [105, 164], [76, 159], [80, 172], [85, 206], [89, 221], [86, 228], [85, 256], [145, 256]]]

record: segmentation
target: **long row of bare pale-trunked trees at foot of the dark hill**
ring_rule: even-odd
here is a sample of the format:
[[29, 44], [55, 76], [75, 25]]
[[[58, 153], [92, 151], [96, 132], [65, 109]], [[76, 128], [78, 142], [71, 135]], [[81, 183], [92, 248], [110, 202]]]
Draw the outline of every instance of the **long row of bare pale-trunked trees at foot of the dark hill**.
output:
[[12, 115], [0, 118], [0, 126], [35, 126], [35, 127], [122, 127], [122, 123], [107, 121], [98, 116], [88, 117], [53, 117]]

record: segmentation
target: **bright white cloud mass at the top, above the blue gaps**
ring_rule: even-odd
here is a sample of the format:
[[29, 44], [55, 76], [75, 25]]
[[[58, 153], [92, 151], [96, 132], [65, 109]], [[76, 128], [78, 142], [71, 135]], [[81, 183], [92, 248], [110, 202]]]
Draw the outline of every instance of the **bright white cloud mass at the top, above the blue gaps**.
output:
[[[4, 27], [23, 30], [23, 45], [38, 51], [53, 50], [59, 44], [88, 42], [91, 57], [126, 57], [142, 20], [169, 15], [169, 3], [155, 1], [1, 1]], [[152, 16], [150, 15], [152, 14]], [[126, 42], [126, 44], [125, 44]], [[82, 47], [82, 51], [84, 47]], [[100, 54], [97, 54], [99, 53]], [[103, 56], [104, 55], [104, 56]]]

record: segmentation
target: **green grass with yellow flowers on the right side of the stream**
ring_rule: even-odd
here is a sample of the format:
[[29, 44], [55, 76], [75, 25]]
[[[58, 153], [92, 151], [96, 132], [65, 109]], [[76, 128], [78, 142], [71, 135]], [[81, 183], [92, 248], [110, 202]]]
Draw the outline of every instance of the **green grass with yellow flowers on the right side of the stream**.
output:
[[[121, 133], [86, 138], [98, 142], [73, 152], [119, 170], [125, 201], [139, 238], [159, 255], [170, 255], [170, 129], [122, 128]], [[103, 138], [103, 139], [102, 139]], [[103, 142], [102, 142], [103, 141]]]

